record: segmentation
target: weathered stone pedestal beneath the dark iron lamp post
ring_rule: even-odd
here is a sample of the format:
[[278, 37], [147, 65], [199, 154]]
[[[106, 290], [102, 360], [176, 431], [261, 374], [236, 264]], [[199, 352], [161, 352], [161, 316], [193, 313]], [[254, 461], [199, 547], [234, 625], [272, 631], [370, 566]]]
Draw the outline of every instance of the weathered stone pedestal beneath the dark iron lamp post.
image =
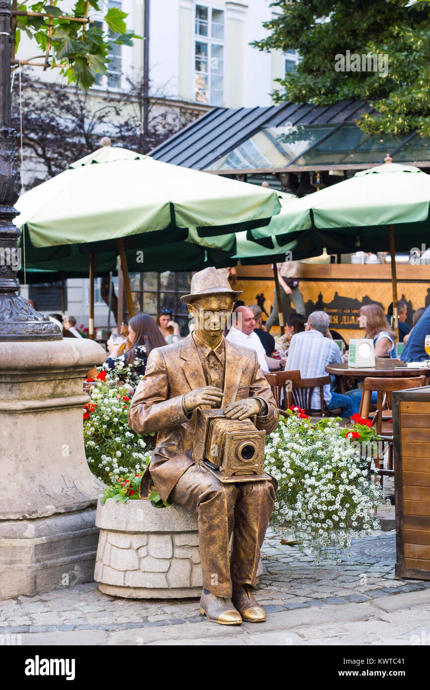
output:
[[96, 342], [0, 343], [0, 598], [91, 580], [95, 504], [82, 391]]

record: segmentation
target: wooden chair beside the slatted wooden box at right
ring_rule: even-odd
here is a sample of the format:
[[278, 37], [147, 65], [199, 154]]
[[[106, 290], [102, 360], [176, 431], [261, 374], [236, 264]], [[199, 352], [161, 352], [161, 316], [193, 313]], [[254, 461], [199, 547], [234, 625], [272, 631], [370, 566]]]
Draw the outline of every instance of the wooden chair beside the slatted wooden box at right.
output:
[[[375, 482], [378, 481], [378, 476], [381, 477], [381, 486], [383, 484], [384, 475], [393, 475], [393, 435], [388, 433], [382, 433], [382, 410], [389, 404], [391, 408], [391, 393], [393, 391], [405, 391], [407, 388], [420, 388], [426, 385], [425, 376], [413, 376], [411, 378], [373, 378], [368, 377], [364, 379], [363, 392], [360, 402], [360, 415], [369, 418], [370, 405], [371, 405], [371, 395], [373, 391], [378, 392], [378, 402], [376, 404], [376, 412], [373, 416], [373, 426], [376, 427], [377, 433], [382, 436], [382, 443], [384, 446], [388, 447], [384, 449], [382, 457], [374, 457], [375, 468], [380, 470], [378, 475], [375, 476]], [[387, 469], [384, 469], [384, 455], [387, 451]]]

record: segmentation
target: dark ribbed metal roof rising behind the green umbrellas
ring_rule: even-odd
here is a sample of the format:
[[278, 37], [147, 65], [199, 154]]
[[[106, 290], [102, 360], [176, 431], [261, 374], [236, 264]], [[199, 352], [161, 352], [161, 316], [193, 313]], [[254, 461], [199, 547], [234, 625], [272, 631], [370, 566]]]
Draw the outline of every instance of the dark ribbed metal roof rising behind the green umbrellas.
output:
[[364, 112], [375, 112], [367, 101], [338, 101], [332, 106], [283, 103], [266, 108], [213, 108], [149, 155], [159, 161], [196, 170], [208, 169], [263, 128], [351, 123]]

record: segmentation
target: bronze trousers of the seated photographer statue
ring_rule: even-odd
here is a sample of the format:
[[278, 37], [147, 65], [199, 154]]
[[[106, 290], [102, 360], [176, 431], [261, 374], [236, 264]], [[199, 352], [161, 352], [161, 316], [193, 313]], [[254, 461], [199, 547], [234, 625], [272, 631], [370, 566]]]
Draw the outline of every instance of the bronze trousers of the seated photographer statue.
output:
[[233, 583], [257, 584], [260, 549], [275, 505], [273, 482], [222, 484], [206, 467], [195, 464], [170, 493], [175, 502], [198, 514], [203, 586], [212, 594], [228, 598]]

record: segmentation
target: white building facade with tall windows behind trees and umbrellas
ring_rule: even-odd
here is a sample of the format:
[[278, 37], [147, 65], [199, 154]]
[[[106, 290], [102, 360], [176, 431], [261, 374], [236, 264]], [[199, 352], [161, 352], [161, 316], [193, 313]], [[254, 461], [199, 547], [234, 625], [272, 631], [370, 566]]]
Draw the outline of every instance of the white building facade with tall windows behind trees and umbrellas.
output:
[[[145, 5], [146, 3], [146, 5]], [[67, 11], [67, 2], [62, 3]], [[70, 6], [72, 3], [70, 2]], [[145, 70], [148, 56], [149, 95], [156, 108], [168, 108], [179, 126], [204, 115], [214, 106], [254, 108], [270, 106], [270, 93], [275, 79], [291, 70], [297, 57], [293, 52], [261, 52], [250, 43], [262, 39], [264, 21], [279, 10], [271, 8], [271, 0], [107, 0], [103, 8], [118, 8], [128, 13], [128, 30], [133, 29], [145, 41], [135, 40], [133, 48], [113, 43], [107, 75], [100, 75], [90, 95], [99, 107], [107, 94], [119, 96], [130, 88], [129, 79], [136, 79]], [[90, 8], [90, 19], [104, 26], [103, 16]], [[35, 55], [34, 46], [23, 36], [18, 59]], [[23, 70], [35, 79], [61, 82], [59, 70], [25, 66]], [[14, 88], [17, 88], [17, 80]], [[100, 131], [100, 136], [110, 131]], [[115, 143], [115, 140], [114, 140]], [[28, 155], [27, 155], [28, 154]], [[24, 151], [24, 184], [26, 170], [40, 171], [40, 164]], [[39, 166], [39, 168], [38, 168]], [[188, 274], [131, 275], [137, 311], [155, 313], [160, 306], [173, 308], [182, 330], [186, 313], [179, 300], [181, 290], [189, 282]], [[58, 312], [61, 287], [35, 286], [24, 288], [23, 294], [39, 297], [43, 311]], [[67, 281], [66, 311], [76, 317], [78, 325], [88, 326], [88, 280]], [[95, 289], [95, 326], [106, 327], [108, 308]], [[35, 300], [37, 302], [37, 299]], [[50, 304], [52, 303], [52, 306]], [[112, 324], [111, 320], [111, 324]]]

